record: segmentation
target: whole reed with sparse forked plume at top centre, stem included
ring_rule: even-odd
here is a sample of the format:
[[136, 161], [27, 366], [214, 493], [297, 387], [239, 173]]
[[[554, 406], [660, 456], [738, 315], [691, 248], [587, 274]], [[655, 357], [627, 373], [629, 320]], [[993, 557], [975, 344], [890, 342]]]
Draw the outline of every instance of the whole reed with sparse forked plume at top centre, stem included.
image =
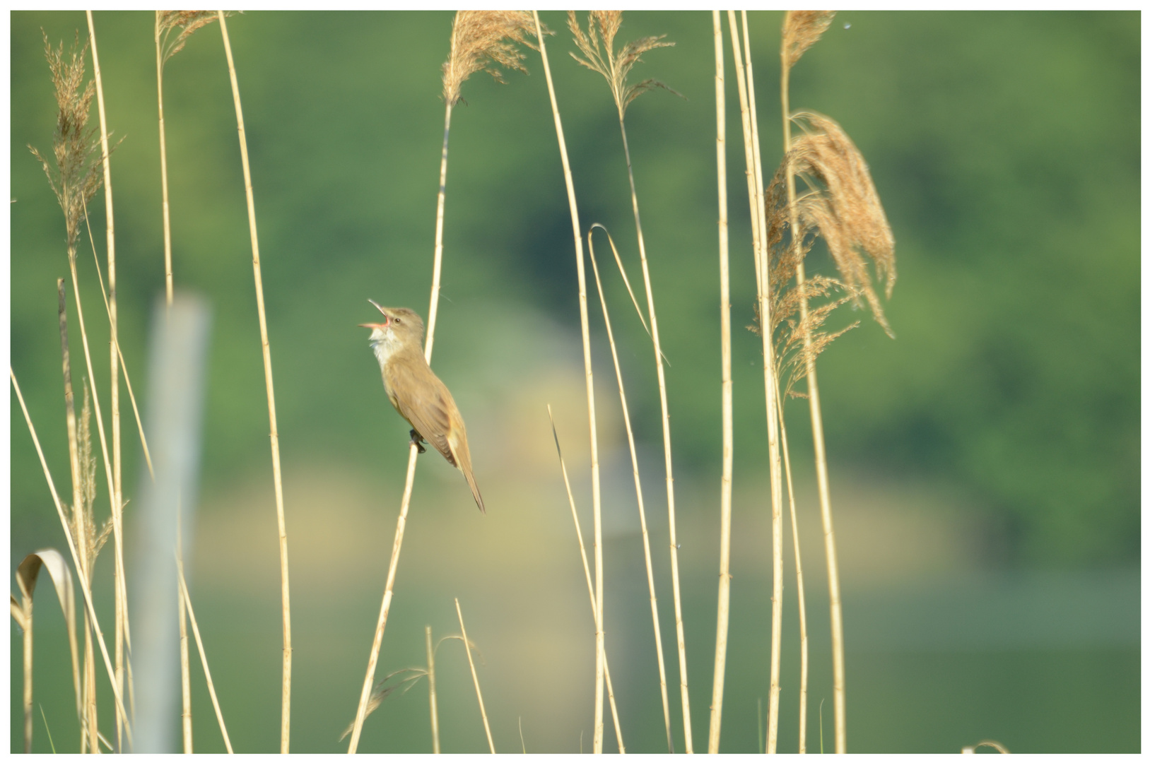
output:
[[[664, 41], [662, 38], [665, 36], [643, 37], [623, 44], [622, 47], [616, 51], [615, 36], [618, 34], [621, 24], [621, 10], [592, 10], [588, 15], [588, 31], [584, 32], [578, 25], [575, 11], [569, 10], [567, 13], [567, 26], [572, 32], [572, 37], [574, 38], [580, 53], [583, 54], [581, 57], [580, 55], [572, 53], [572, 57], [591, 71], [599, 72], [603, 75], [604, 79], [607, 80], [607, 86], [611, 88], [611, 95], [615, 102], [615, 109], [619, 115], [619, 131], [623, 140], [623, 155], [627, 159], [627, 177], [630, 183], [631, 191], [631, 210], [635, 216], [635, 232], [638, 240], [639, 262], [643, 265], [643, 282], [646, 287], [647, 318], [650, 321], [651, 339], [654, 349], [656, 372], [659, 380], [659, 402], [662, 414], [664, 461], [667, 478], [667, 519], [670, 530], [670, 580], [675, 600], [675, 634], [678, 647], [678, 686], [683, 710], [683, 746], [688, 753], [692, 753], [693, 740], [691, 735], [691, 706], [687, 681], [687, 642], [683, 634], [682, 598], [678, 585], [678, 542], [676, 540], [675, 523], [675, 484], [672, 468], [670, 416], [667, 411], [667, 384], [662, 367], [664, 354], [659, 342], [659, 322], [656, 316], [654, 295], [651, 291], [651, 275], [647, 267], [646, 245], [643, 238], [643, 223], [639, 217], [638, 194], [635, 190], [635, 172], [631, 167], [631, 154], [627, 141], [626, 124], [627, 108], [636, 98], [653, 88], [664, 88], [674, 92], [667, 87], [667, 85], [657, 79], [644, 79], [635, 84], [629, 84], [627, 80], [631, 68], [641, 61], [641, 56], [644, 53], [660, 47], [670, 47], [674, 43]], [[598, 558], [596, 564], [599, 564]], [[653, 580], [650, 577], [649, 585], [653, 589]], [[601, 587], [598, 593], [601, 598]], [[656, 623], [656, 639], [661, 641], [658, 631], [658, 615], [656, 609], [652, 609], [652, 619]], [[657, 652], [661, 653], [661, 643]], [[670, 712], [667, 703], [666, 668], [662, 664], [661, 655], [659, 660], [659, 676], [664, 701], [664, 725], [667, 732], [667, 746], [669, 750], [672, 749]], [[601, 704], [601, 702], [597, 702], [597, 704]]]

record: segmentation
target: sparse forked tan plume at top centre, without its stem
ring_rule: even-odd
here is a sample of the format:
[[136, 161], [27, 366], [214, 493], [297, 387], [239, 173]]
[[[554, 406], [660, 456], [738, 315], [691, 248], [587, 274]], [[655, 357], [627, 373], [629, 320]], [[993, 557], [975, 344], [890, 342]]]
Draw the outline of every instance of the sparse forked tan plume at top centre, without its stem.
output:
[[[611, 86], [611, 94], [615, 99], [615, 107], [619, 109], [620, 120], [627, 114], [627, 107], [630, 106], [631, 101], [649, 90], [661, 87], [682, 98], [682, 93], [672, 90], [658, 79], [644, 79], [638, 84], [627, 85], [627, 75], [630, 74], [631, 67], [641, 61], [639, 56], [656, 48], [674, 47], [675, 44], [664, 43], [662, 38], [666, 34], [641, 37], [637, 40], [627, 43], [616, 53], [615, 34], [619, 32], [622, 21], [622, 10], [591, 10], [588, 13], [588, 31], [584, 33], [578, 25], [578, 21], [575, 18], [575, 11], [567, 11], [567, 29], [570, 30], [572, 37], [575, 39], [575, 45], [578, 46], [584, 56], [581, 59], [575, 53], [572, 53], [572, 57], [580, 64], [591, 71], [598, 71], [606, 78], [607, 84]], [[603, 49], [599, 46], [600, 37], [603, 38]]]

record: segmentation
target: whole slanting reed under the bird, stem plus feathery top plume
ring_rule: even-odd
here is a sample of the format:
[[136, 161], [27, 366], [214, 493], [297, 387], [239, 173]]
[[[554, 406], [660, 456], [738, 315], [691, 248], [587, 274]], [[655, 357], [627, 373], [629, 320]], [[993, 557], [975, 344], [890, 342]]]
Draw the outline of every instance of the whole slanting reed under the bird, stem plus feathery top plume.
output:
[[[428, 307], [427, 339], [423, 342], [423, 356], [429, 364], [435, 345], [436, 318], [439, 313], [439, 278], [443, 269], [443, 219], [447, 198], [447, 142], [451, 136], [451, 111], [461, 99], [460, 87], [473, 74], [485, 70], [498, 82], [503, 82], [500, 65], [527, 71], [522, 64], [523, 54], [520, 53], [516, 45], [522, 44], [534, 48], [535, 46], [528, 39], [528, 36], [531, 34], [536, 34], [536, 25], [531, 15], [524, 10], [459, 10], [452, 22], [451, 52], [443, 64], [443, 98], [445, 102], [443, 153], [439, 161], [439, 195], [436, 205], [431, 300]], [[404, 530], [407, 526], [407, 510], [415, 484], [415, 456], [417, 454], [416, 445], [412, 444], [407, 458], [404, 496], [400, 501], [399, 518], [396, 524], [396, 539], [392, 544], [391, 562], [388, 565], [388, 581], [384, 586], [383, 603], [379, 607], [379, 618], [376, 623], [371, 652], [368, 656], [367, 675], [363, 678], [355, 720], [352, 725], [348, 753], [354, 753], [359, 747], [363, 719], [367, 717], [371, 683], [379, 658], [379, 646], [383, 642], [383, 632], [386, 629], [388, 614], [391, 609], [396, 570], [404, 544]]]

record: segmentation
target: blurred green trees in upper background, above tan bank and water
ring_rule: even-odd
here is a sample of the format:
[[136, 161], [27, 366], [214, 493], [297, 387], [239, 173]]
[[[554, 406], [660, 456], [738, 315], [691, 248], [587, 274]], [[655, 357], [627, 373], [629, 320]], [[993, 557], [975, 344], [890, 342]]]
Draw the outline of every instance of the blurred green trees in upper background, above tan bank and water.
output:
[[[543, 21], [564, 29], [558, 13]], [[775, 13], [751, 18], [768, 172], [781, 154], [780, 22]], [[146, 399], [146, 325], [163, 282], [153, 17], [98, 13], [95, 23], [109, 128], [113, 140], [124, 139], [113, 157], [121, 338]], [[47, 144], [55, 120], [40, 26], [55, 41], [85, 22], [79, 13], [12, 16], [12, 363], [43, 422], [49, 461], [62, 463], [53, 280], [66, 272], [64, 231], [24, 149]], [[367, 296], [425, 305], [451, 15], [248, 13], [230, 29], [284, 456], [398, 469], [401, 457], [391, 456], [401, 456], [404, 438], [378, 434], [391, 411], [354, 326]], [[688, 100], [643, 99], [628, 131], [672, 363], [676, 470], [711, 473], [720, 453], [711, 23], [702, 14], [628, 13], [620, 33], [676, 41], [636, 74]], [[565, 33], [549, 45], [584, 223], [607, 225], [637, 273], [614, 105], [601, 82], [567, 59], [574, 45]], [[792, 107], [831, 115], [862, 151], [897, 241], [899, 283], [887, 315], [898, 339], [867, 318], [820, 362], [831, 461], [954, 485], [1014, 527], [1020, 560], [1109, 563], [1137, 554], [1138, 46], [1136, 13], [843, 11], [792, 74]], [[202, 461], [209, 487], [268, 461], [220, 47], [208, 26], [164, 72], [176, 284], [202, 291], [215, 309]], [[467, 323], [466, 310], [483, 302], [526, 302], [576, 325], [545, 83], [538, 59], [526, 63], [531, 74], [506, 85], [468, 83], [469, 105], [453, 120], [443, 326]], [[735, 168], [737, 99], [728, 103]], [[746, 325], [753, 283], [738, 174], [730, 193], [734, 321]], [[101, 203], [93, 221], [102, 222]], [[85, 239], [78, 257], [89, 331], [93, 347], [106, 347]], [[95, 239], [102, 255], [103, 237]], [[812, 268], [827, 272], [820, 257], [816, 247]], [[621, 284], [610, 282], [608, 296], [624, 303]], [[645, 334], [637, 321], [620, 323], [620, 341], [634, 350], [621, 360], [634, 378], [636, 432], [656, 444]], [[756, 338], [738, 332], [734, 352], [736, 454], [741, 469], [758, 469], [766, 446]], [[106, 376], [106, 353], [93, 361]], [[445, 378], [459, 378], [469, 359], [443, 352], [440, 362]], [[789, 415], [805, 413], [791, 403]], [[12, 426], [13, 542], [23, 547], [53, 517], [34, 518], [45, 515], [46, 491], [23, 422]], [[141, 463], [132, 450], [125, 456], [131, 486]]]

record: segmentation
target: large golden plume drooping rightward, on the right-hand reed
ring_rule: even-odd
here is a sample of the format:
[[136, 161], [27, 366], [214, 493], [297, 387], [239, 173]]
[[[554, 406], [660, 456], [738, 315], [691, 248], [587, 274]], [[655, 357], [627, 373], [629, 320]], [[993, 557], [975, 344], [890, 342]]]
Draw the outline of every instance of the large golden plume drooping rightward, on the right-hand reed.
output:
[[[862, 154], [831, 118], [814, 111], [799, 111], [791, 117], [802, 128], [770, 182], [767, 201], [772, 206], [768, 244], [782, 247], [782, 232], [790, 226], [785, 203], [785, 172], [802, 177], [808, 193], [796, 199], [799, 241], [822, 236], [843, 283], [865, 296], [875, 319], [894, 337], [882, 305], [872, 285], [867, 255], [875, 264], [875, 275], [885, 280], [889, 299], [895, 288], [895, 237], [887, 222], [879, 193]], [[804, 245], [808, 248], [808, 245]], [[788, 244], [787, 248], [793, 248]], [[800, 247], [803, 248], [803, 247]], [[805, 255], [806, 248], [802, 254]]]

